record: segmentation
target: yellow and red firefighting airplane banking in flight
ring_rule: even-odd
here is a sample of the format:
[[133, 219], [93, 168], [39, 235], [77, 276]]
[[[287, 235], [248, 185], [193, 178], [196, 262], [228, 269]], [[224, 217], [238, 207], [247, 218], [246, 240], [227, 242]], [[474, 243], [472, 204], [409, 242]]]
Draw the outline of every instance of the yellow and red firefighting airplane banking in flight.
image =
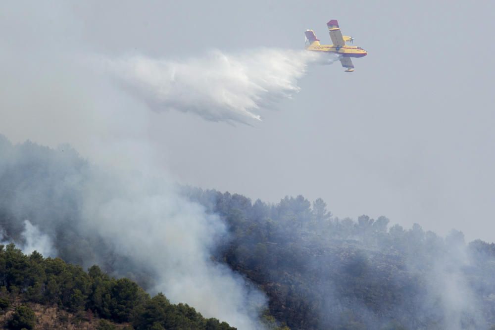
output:
[[366, 50], [361, 47], [347, 46], [346, 41], [354, 43], [354, 38], [343, 36], [339, 28], [339, 23], [336, 19], [332, 19], [327, 23], [328, 33], [332, 39], [333, 45], [320, 45], [320, 40], [316, 38], [313, 30], [306, 30], [306, 49], [312, 51], [328, 51], [341, 55], [340, 61], [342, 66], [347, 68], [346, 72], [353, 72], [354, 65], [350, 60], [351, 57], [363, 57], [368, 54]]

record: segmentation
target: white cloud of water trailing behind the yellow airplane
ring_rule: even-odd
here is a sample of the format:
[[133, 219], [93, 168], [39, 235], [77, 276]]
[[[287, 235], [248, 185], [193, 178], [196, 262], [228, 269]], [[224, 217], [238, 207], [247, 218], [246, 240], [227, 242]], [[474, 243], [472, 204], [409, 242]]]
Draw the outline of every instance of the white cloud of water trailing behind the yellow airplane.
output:
[[219, 50], [183, 60], [133, 56], [110, 60], [113, 74], [155, 111], [192, 112], [206, 120], [249, 124], [260, 111], [299, 91], [310, 63], [331, 64], [335, 54], [261, 48]]

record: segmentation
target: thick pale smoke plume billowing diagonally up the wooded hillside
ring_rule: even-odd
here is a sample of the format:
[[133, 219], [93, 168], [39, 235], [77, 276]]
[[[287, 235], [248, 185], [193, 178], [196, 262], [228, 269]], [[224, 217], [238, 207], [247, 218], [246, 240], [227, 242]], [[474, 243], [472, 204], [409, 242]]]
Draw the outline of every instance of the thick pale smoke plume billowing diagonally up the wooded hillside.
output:
[[210, 260], [226, 234], [224, 223], [173, 185], [140, 174], [94, 174], [86, 186], [84, 228], [115, 253], [156, 275], [154, 292], [187, 302], [206, 317], [239, 329], [257, 329], [266, 298], [244, 279]]

